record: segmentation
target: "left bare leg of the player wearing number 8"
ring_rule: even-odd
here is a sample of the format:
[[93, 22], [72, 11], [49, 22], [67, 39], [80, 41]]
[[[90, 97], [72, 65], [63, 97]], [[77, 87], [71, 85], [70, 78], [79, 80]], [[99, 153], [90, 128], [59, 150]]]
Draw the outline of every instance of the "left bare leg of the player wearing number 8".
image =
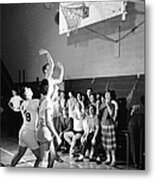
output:
[[11, 161], [11, 167], [15, 167], [19, 160], [24, 156], [25, 152], [27, 150], [27, 147], [22, 147], [22, 146], [19, 146], [19, 150], [17, 152], [17, 154], [14, 156], [13, 160]]

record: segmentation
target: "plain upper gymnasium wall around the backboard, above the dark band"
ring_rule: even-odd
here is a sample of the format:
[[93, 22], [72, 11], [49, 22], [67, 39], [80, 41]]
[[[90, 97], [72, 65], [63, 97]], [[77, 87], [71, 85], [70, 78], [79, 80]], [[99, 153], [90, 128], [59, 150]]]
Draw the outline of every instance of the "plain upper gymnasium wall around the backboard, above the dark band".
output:
[[[129, 3], [125, 22], [120, 17], [90, 26], [92, 30], [110, 38], [121, 37], [144, 21], [144, 5]], [[48, 49], [55, 62], [65, 66], [65, 79], [135, 76], [144, 74], [144, 24], [135, 28], [118, 46], [97, 33], [82, 29], [67, 38], [59, 36], [55, 22], [57, 6], [47, 9], [44, 4], [1, 5], [2, 59], [14, 82], [18, 71], [26, 71], [26, 81], [42, 78], [44, 57], [38, 50]], [[56, 71], [56, 76], [58, 71]]]

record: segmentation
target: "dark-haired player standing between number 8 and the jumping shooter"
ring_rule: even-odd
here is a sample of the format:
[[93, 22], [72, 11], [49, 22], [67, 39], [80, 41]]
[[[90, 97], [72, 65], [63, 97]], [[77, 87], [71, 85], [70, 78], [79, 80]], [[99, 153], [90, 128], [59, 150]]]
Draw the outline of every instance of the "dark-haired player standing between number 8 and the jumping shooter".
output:
[[43, 79], [40, 84], [40, 105], [39, 105], [39, 121], [37, 128], [37, 139], [40, 143], [41, 161], [39, 167], [53, 167], [56, 158], [53, 136], [56, 137], [58, 145], [61, 144], [61, 139], [55, 130], [53, 121], [53, 106], [51, 100], [47, 96], [49, 83], [47, 79]]

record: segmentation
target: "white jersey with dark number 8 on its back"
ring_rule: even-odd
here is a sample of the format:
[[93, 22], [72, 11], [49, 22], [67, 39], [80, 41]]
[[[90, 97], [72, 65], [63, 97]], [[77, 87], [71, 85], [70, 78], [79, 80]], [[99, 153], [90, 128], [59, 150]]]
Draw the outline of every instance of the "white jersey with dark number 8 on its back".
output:
[[38, 107], [39, 99], [26, 100], [22, 103], [20, 107], [23, 117], [22, 128], [31, 130], [36, 129], [36, 123], [38, 121]]

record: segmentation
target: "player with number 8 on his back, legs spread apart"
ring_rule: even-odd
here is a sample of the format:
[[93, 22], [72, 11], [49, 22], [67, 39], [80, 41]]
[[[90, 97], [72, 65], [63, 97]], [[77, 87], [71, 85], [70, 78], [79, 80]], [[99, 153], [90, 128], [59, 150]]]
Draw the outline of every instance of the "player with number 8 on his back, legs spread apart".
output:
[[25, 154], [27, 148], [30, 148], [36, 156], [34, 167], [38, 167], [40, 161], [39, 146], [36, 141], [36, 125], [38, 121], [38, 106], [39, 100], [32, 99], [33, 92], [31, 88], [24, 88], [25, 100], [20, 106], [20, 111], [23, 117], [23, 125], [19, 132], [19, 150], [11, 162], [11, 167], [17, 165], [19, 160]]

